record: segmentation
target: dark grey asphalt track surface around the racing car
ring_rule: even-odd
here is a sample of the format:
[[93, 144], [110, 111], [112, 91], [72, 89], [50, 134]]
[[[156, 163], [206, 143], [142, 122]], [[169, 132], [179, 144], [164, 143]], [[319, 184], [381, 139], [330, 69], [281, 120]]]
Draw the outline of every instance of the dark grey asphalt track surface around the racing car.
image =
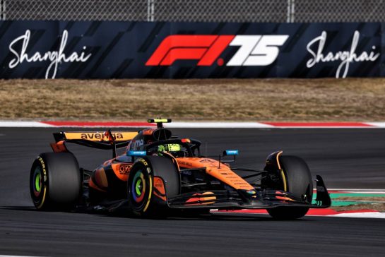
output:
[[[58, 128], [0, 128], [0, 255], [384, 256], [382, 219], [275, 221], [266, 215], [215, 215], [141, 220], [38, 212], [28, 191], [30, 165], [38, 153], [51, 151], [54, 131]], [[303, 157], [313, 176], [323, 176], [329, 188], [385, 187], [385, 129], [172, 131], [200, 139], [208, 155], [239, 149], [239, 166], [263, 168], [268, 153], [283, 150]], [[111, 155], [77, 146], [71, 150], [88, 169]]]

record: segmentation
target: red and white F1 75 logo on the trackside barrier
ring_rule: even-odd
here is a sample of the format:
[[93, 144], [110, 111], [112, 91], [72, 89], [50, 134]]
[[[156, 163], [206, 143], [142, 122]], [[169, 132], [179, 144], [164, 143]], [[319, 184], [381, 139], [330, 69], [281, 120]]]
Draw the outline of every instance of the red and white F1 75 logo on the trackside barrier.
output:
[[197, 66], [211, 66], [225, 49], [239, 47], [226, 66], [268, 66], [276, 61], [288, 35], [170, 35], [146, 62], [146, 66], [170, 66], [177, 60], [199, 60]]

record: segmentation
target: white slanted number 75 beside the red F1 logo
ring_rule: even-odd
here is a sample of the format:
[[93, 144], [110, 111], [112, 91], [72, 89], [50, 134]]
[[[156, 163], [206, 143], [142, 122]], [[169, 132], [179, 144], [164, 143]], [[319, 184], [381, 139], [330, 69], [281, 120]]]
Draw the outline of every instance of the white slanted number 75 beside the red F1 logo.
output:
[[288, 35], [237, 35], [230, 46], [240, 46], [226, 66], [268, 66], [276, 61]]

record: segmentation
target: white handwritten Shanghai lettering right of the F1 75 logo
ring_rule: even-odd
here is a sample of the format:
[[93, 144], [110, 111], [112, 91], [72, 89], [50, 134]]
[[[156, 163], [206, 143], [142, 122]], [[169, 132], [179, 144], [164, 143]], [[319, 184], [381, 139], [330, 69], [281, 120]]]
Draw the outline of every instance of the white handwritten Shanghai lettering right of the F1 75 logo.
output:
[[[340, 73], [343, 71], [342, 78], [346, 78], [349, 71], [349, 66], [353, 62], [360, 61], [376, 61], [380, 53], [376, 52], [376, 47], [372, 46], [371, 52], [362, 52], [361, 54], [356, 53], [358, 41], [360, 40], [360, 32], [357, 30], [354, 32], [352, 46], [350, 47], [350, 51], [339, 51], [336, 53], [328, 52], [324, 54], [324, 46], [326, 42], [327, 33], [323, 31], [319, 37], [314, 38], [314, 40], [310, 41], [307, 44], [307, 51], [312, 54], [312, 58], [307, 61], [307, 68], [312, 68], [318, 63], [326, 63], [330, 61], [340, 61], [340, 65], [336, 71], [336, 78], [340, 78]], [[318, 44], [318, 48], [316, 51], [312, 49], [312, 47]]]

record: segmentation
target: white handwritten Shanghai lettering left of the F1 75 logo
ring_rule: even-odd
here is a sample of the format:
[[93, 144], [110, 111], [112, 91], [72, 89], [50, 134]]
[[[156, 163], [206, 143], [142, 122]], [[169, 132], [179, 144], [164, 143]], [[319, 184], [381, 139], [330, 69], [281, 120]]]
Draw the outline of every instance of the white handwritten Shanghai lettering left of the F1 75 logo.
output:
[[[27, 48], [30, 42], [30, 30], [26, 30], [25, 34], [16, 38], [9, 44], [9, 50], [14, 55], [14, 58], [9, 62], [9, 68], [16, 68], [19, 64], [22, 64], [23, 61], [31, 63], [31, 62], [41, 62], [41, 61], [51, 61], [49, 64], [47, 71], [45, 73], [45, 78], [55, 78], [57, 74], [57, 67], [61, 62], [85, 62], [90, 59], [91, 54], [85, 54], [86, 47], [83, 47], [83, 52], [78, 54], [77, 52], [73, 52], [68, 56], [64, 54], [64, 50], [66, 48], [66, 43], [68, 40], [69, 32], [67, 30], [63, 31], [63, 36], [61, 37], [59, 51], [48, 51], [43, 54], [40, 52], [35, 52], [34, 54], [28, 54]], [[14, 46], [18, 42], [23, 42], [20, 52], [18, 52]]]

